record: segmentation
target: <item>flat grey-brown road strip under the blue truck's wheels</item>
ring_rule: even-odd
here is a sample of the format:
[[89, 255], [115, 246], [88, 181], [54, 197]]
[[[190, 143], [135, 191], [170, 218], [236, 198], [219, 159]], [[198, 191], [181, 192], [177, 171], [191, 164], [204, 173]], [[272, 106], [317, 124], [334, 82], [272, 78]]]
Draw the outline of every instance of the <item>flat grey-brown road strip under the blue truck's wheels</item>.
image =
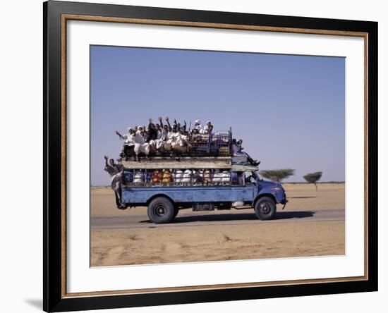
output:
[[253, 209], [232, 209], [230, 211], [193, 212], [184, 209], [176, 219], [168, 224], [154, 224], [148, 220], [147, 214], [130, 214], [123, 216], [92, 216], [92, 228], [156, 228], [183, 227], [225, 224], [253, 223], [301, 223], [305, 221], [344, 221], [345, 209], [330, 209], [316, 211], [278, 211], [274, 219], [260, 221]]

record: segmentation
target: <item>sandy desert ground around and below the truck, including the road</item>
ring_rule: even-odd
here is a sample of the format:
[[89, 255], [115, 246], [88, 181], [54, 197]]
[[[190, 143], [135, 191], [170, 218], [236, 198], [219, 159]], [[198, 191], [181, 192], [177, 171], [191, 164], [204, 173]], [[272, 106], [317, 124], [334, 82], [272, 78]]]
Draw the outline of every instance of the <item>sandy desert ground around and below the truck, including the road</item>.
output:
[[116, 209], [109, 188], [91, 190], [91, 265], [306, 257], [345, 253], [345, 185], [284, 184], [289, 203], [260, 221], [253, 209], [179, 211], [148, 221], [147, 208]]

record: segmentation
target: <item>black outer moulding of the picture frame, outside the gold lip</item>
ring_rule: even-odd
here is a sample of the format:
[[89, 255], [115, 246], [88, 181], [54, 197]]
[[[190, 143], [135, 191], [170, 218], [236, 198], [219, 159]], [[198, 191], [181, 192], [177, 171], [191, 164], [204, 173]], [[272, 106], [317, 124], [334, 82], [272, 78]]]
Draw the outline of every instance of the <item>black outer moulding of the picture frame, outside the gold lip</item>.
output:
[[[180, 20], [368, 33], [368, 280], [287, 286], [171, 291], [133, 295], [61, 296], [61, 14]], [[270, 16], [111, 4], [47, 1], [43, 4], [43, 309], [63, 312], [249, 300], [377, 290], [377, 22]], [[360, 139], [361, 140], [361, 139]]]

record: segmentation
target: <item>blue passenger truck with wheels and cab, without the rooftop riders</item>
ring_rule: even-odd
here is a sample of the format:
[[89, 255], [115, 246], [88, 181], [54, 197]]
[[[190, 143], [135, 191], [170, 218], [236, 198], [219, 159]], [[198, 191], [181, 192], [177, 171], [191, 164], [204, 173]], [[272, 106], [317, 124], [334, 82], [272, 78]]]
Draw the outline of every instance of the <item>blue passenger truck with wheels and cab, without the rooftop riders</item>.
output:
[[[121, 202], [146, 206], [153, 223], [171, 222], [180, 209], [211, 211], [250, 206], [260, 220], [286, 205], [280, 183], [260, 179], [257, 166], [231, 156], [123, 162]], [[284, 208], [283, 207], [283, 208]]]

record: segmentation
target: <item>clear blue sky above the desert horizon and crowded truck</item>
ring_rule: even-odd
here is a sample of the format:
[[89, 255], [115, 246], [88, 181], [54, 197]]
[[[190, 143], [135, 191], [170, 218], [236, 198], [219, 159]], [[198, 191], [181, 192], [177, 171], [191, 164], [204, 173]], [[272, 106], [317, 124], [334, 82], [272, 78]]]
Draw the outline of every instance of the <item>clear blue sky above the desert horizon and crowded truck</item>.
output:
[[114, 131], [158, 116], [231, 127], [260, 169], [294, 168], [286, 181], [345, 180], [344, 58], [92, 46], [90, 84], [92, 185], [109, 185]]

